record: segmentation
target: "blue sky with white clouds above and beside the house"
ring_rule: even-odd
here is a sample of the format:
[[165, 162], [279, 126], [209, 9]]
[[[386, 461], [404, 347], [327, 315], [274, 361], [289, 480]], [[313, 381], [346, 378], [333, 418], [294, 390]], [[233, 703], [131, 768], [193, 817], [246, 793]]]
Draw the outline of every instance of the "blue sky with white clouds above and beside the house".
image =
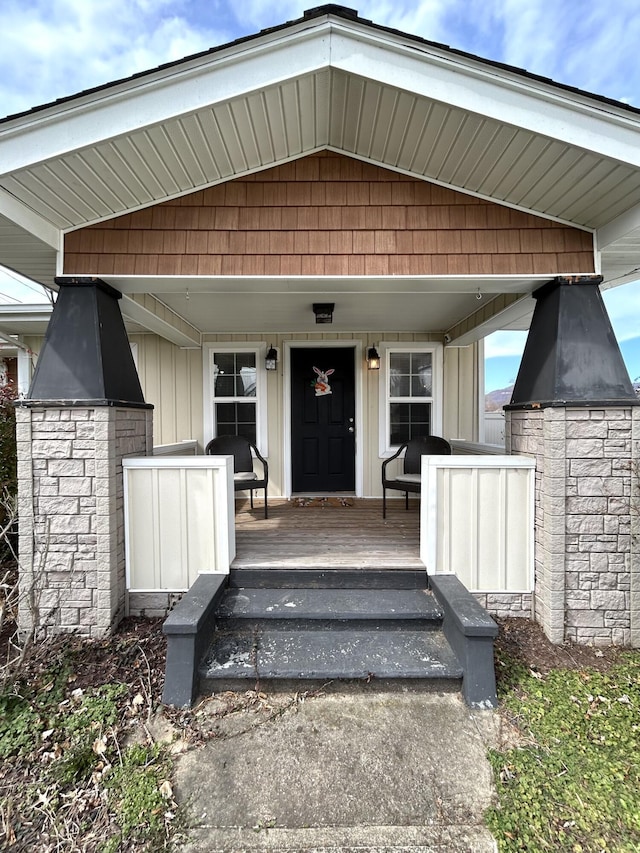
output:
[[[315, 5], [320, 4], [0, 0], [0, 116], [256, 33]], [[637, 0], [350, 0], [347, 5], [375, 23], [640, 107]], [[0, 278], [0, 302], [14, 292], [14, 282]], [[607, 291], [605, 304], [635, 379], [640, 284]], [[487, 390], [515, 378], [524, 334], [487, 339]]]

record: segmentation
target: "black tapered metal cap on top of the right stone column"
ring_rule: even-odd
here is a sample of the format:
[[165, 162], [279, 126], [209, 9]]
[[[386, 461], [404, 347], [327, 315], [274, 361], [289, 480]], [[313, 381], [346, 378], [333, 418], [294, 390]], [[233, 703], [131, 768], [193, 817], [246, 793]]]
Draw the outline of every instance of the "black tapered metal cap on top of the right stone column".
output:
[[506, 408], [637, 405], [598, 285], [602, 276], [556, 278], [536, 307]]

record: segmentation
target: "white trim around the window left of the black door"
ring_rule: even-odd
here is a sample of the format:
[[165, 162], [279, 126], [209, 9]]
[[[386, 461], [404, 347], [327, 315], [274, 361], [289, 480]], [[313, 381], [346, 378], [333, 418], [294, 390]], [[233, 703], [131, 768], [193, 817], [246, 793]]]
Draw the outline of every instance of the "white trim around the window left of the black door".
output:
[[216, 397], [213, 393], [213, 354], [214, 352], [253, 352], [256, 356], [256, 396], [247, 398], [256, 404], [256, 444], [263, 456], [269, 455], [268, 445], [268, 412], [267, 412], [267, 371], [264, 360], [267, 355], [267, 344], [262, 341], [221, 341], [207, 343], [202, 347], [202, 378], [204, 402], [204, 445], [215, 435], [213, 404]]

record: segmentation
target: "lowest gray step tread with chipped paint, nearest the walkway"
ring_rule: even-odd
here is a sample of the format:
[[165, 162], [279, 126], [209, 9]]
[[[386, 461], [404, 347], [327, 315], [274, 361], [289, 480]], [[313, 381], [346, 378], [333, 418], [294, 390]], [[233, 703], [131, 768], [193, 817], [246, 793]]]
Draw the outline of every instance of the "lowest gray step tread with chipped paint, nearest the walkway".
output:
[[216, 678], [424, 678], [462, 676], [440, 631], [337, 629], [217, 631], [200, 667]]

